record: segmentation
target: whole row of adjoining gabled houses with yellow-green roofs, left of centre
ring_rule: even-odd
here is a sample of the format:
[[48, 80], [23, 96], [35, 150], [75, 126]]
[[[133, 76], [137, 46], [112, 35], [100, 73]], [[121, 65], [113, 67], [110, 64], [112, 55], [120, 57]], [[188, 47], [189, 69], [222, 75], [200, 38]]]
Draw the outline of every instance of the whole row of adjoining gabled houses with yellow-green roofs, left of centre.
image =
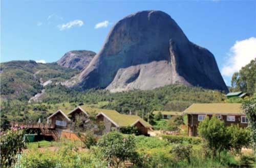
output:
[[105, 130], [119, 130], [122, 127], [135, 126], [142, 134], [147, 134], [148, 128], [152, 128], [150, 124], [145, 122], [137, 115], [120, 114], [115, 110], [91, 108], [85, 105], [78, 106], [73, 110], [60, 109], [47, 118], [47, 123], [54, 124], [56, 131], [61, 134], [65, 132], [75, 132], [83, 130], [90, 122], [90, 116], [96, 116], [97, 121], [104, 122]]

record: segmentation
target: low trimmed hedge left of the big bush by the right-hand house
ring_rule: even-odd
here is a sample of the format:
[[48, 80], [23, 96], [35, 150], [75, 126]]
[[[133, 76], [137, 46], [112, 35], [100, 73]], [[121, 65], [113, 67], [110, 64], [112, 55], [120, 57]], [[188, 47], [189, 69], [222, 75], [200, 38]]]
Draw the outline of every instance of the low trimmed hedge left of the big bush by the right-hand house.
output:
[[163, 135], [163, 139], [170, 143], [190, 143], [191, 145], [198, 145], [202, 143], [202, 139], [199, 137], [180, 136], [180, 135]]

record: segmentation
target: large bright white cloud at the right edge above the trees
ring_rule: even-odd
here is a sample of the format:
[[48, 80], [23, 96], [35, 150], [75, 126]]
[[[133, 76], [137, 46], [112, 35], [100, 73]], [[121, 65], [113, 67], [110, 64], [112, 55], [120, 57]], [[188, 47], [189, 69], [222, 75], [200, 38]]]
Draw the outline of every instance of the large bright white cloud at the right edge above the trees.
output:
[[256, 58], [255, 37], [236, 41], [228, 53], [227, 63], [222, 67], [222, 75], [231, 77], [254, 58]]

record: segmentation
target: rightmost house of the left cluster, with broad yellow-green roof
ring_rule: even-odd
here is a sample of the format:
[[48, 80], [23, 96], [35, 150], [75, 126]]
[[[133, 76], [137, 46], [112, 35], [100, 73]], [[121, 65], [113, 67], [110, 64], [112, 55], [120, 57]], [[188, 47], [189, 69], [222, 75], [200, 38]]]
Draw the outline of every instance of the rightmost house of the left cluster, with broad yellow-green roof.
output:
[[104, 111], [96, 115], [97, 120], [104, 123], [104, 132], [112, 130], [120, 130], [124, 127], [137, 127], [138, 131], [143, 135], [148, 135], [148, 129], [153, 127], [137, 115], [120, 114], [117, 111]]

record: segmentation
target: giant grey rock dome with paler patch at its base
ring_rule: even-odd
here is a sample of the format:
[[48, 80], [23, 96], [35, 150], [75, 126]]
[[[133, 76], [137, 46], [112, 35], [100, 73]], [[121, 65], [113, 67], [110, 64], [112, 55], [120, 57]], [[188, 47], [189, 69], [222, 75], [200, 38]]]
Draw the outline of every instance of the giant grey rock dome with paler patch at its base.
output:
[[174, 83], [227, 91], [208, 50], [190, 42], [168, 14], [141, 11], [118, 21], [88, 67], [65, 84], [123, 91]]

